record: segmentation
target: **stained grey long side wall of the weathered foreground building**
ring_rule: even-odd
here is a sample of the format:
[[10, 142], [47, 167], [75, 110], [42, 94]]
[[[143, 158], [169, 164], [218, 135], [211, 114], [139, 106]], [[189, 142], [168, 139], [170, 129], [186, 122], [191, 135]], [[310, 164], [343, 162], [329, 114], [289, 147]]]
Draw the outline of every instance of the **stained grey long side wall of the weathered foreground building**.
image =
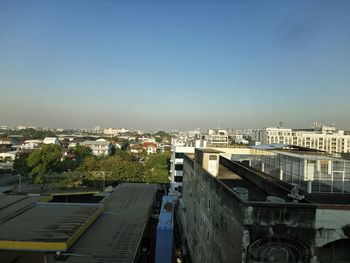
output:
[[180, 213], [191, 259], [194, 263], [241, 262], [241, 201], [188, 157], [184, 158], [184, 171], [186, 211]]

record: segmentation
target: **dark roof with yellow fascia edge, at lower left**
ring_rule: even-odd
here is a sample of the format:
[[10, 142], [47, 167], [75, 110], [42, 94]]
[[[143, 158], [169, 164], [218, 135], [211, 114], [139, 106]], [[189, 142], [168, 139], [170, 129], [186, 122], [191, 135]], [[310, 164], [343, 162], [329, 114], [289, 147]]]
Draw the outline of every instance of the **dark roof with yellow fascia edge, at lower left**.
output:
[[26, 199], [15, 201], [8, 207], [16, 209], [1, 215], [0, 249], [66, 251], [103, 210], [98, 204], [33, 203], [30, 199], [27, 205]]

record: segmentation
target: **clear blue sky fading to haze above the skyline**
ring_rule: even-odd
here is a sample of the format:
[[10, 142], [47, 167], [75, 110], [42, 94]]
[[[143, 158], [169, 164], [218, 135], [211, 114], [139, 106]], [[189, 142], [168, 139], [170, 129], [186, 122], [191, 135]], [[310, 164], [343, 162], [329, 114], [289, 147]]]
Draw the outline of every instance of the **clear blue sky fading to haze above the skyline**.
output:
[[350, 129], [348, 0], [0, 0], [0, 125]]

